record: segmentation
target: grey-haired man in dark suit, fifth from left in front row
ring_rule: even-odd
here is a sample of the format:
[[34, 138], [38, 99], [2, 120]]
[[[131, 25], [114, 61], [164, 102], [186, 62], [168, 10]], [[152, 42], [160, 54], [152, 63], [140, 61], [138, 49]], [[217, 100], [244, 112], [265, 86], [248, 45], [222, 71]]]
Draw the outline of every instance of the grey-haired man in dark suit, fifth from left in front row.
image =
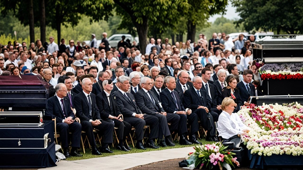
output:
[[[180, 116], [173, 113], [166, 113], [163, 110], [155, 93], [151, 91], [151, 88], [153, 87], [151, 78], [142, 77], [140, 84], [142, 89], [135, 94], [136, 103], [143, 113], [156, 116], [159, 119], [159, 145], [162, 147], [166, 147], [167, 145], [175, 146], [171, 139], [171, 133], [178, 129]], [[171, 123], [171, 129], [168, 128], [167, 123]], [[165, 137], [164, 139], [163, 135]]]

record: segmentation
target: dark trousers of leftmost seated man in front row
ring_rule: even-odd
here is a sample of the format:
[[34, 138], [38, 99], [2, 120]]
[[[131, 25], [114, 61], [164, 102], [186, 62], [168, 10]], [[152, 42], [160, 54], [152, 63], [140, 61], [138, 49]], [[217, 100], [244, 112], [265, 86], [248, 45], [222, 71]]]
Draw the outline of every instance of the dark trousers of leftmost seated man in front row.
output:
[[[56, 129], [60, 132], [61, 145], [68, 148], [68, 134], [72, 132], [72, 147], [80, 148], [82, 126], [78, 122], [70, 125], [67, 123], [56, 123]], [[58, 143], [57, 143], [58, 144]]]

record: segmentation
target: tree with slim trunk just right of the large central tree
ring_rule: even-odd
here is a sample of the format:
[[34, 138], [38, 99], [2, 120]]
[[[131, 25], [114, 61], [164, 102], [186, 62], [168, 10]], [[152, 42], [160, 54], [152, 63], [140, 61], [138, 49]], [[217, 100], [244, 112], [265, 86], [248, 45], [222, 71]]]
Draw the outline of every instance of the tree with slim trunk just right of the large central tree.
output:
[[224, 13], [227, 0], [188, 0], [189, 9], [184, 12], [187, 18], [187, 40], [195, 41], [197, 25], [203, 25], [211, 15]]

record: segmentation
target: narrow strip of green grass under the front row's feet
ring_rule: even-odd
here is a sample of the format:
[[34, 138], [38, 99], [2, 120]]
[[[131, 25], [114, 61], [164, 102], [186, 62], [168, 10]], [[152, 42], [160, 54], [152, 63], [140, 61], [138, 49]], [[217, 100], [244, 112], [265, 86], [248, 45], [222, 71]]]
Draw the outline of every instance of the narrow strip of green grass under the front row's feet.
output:
[[[198, 139], [198, 141], [201, 142], [203, 145], [213, 143], [213, 142], [205, 141], [205, 139]], [[165, 147], [165, 148], [160, 147], [158, 149], [146, 148], [146, 150], [133, 148], [132, 145], [129, 144], [129, 146], [132, 148], [132, 150], [130, 150], [128, 152], [124, 152], [124, 151], [118, 150], [116, 148], [110, 147], [110, 149], [112, 151], [114, 151], [114, 153], [102, 153], [102, 155], [92, 155], [92, 150], [91, 149], [85, 149], [85, 154], [82, 151], [79, 152], [80, 154], [83, 155], [82, 157], [70, 157], [70, 158], [67, 158], [66, 160], [67, 161], [75, 161], [75, 160], [81, 160], [81, 159], [99, 158], [99, 157], [104, 157], [104, 156], [113, 156], [113, 155], [121, 155], [121, 154], [128, 154], [128, 153], [139, 153], [139, 152], [148, 152], [148, 151], [158, 151], [158, 150], [164, 150], [164, 149], [184, 148], [184, 147], [197, 145], [197, 144], [180, 145], [179, 141], [174, 141], [174, 143], [176, 144], [175, 146], [168, 146], [168, 147]]]

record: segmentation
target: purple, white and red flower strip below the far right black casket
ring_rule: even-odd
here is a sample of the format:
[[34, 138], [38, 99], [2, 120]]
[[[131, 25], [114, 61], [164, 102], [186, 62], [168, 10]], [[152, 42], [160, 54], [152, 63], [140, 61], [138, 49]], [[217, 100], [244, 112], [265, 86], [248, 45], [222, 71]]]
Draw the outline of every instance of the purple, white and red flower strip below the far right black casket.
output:
[[264, 64], [259, 68], [264, 79], [303, 79], [303, 63]]

